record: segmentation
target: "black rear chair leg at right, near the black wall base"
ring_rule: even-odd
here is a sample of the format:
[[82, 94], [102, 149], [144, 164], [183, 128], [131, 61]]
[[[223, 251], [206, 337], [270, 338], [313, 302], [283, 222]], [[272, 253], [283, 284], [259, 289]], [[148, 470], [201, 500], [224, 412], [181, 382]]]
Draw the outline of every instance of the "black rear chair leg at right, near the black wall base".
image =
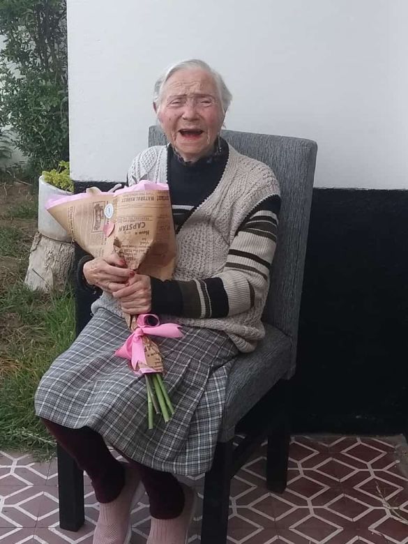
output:
[[283, 493], [287, 485], [289, 462], [290, 425], [286, 411], [268, 435], [266, 449], [266, 487], [269, 491]]

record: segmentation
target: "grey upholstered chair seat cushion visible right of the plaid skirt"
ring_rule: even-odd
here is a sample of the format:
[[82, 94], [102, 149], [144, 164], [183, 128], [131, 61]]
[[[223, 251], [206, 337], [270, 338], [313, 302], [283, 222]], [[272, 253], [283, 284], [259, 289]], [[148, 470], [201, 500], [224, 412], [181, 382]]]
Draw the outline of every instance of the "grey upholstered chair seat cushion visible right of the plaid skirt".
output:
[[291, 339], [265, 324], [265, 338], [255, 352], [239, 355], [229, 372], [225, 409], [218, 441], [234, 437], [236, 424], [291, 367]]

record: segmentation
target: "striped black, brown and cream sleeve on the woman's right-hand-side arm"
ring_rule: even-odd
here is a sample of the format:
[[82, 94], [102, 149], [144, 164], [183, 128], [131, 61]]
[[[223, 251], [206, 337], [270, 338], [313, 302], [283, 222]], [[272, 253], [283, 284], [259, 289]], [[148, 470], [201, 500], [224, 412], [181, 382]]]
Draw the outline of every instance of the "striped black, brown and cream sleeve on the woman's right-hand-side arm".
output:
[[183, 317], [227, 317], [264, 296], [278, 234], [280, 197], [259, 203], [239, 227], [221, 273], [206, 280], [152, 278], [152, 311]]

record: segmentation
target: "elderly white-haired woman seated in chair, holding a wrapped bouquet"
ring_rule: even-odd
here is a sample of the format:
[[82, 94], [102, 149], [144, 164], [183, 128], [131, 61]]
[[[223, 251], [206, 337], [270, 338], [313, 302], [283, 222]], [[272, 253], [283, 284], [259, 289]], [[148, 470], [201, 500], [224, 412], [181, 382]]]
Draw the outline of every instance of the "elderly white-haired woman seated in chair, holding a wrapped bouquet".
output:
[[[232, 361], [264, 335], [279, 188], [269, 167], [220, 137], [231, 98], [203, 61], [178, 63], [156, 83], [153, 107], [169, 143], [139, 153], [128, 183], [169, 185], [174, 278], [139, 275], [117, 255], [87, 260], [84, 280], [103, 294], [36, 393], [38, 416], [91, 478], [100, 502], [94, 543], [130, 540], [130, 511], [143, 489], [151, 512], [147, 542], [187, 542], [195, 491], [174, 474], [211, 467]], [[175, 413], [154, 430], [147, 428], [144, 380], [114, 356], [128, 337], [123, 313], [146, 312], [183, 332], [181, 339], [155, 338]]]

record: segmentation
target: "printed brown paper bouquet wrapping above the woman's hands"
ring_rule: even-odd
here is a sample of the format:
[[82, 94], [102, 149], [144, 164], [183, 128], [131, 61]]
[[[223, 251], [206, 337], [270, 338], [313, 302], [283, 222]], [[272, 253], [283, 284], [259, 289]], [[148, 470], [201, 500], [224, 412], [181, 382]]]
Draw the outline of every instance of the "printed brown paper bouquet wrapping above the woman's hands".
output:
[[115, 251], [139, 274], [172, 277], [176, 239], [168, 190], [118, 194], [91, 188], [86, 195], [48, 208], [82, 249], [93, 257]]

